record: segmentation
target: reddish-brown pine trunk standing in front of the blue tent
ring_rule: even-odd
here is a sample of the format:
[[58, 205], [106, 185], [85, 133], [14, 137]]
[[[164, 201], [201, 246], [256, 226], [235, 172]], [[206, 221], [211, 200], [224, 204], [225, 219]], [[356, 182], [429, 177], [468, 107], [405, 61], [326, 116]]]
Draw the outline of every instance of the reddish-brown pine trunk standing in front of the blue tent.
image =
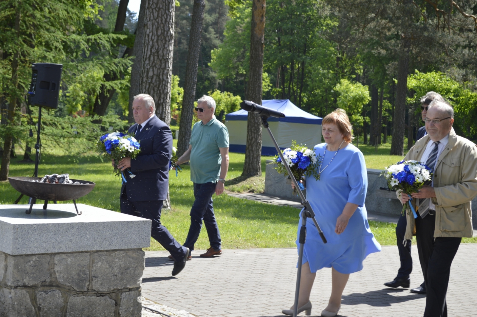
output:
[[[249, 83], [245, 98], [262, 104], [262, 72], [265, 33], [265, 0], [253, 0], [252, 28], [250, 36]], [[261, 168], [262, 129], [257, 113], [249, 112], [247, 119], [247, 145], [242, 176], [262, 174]]]

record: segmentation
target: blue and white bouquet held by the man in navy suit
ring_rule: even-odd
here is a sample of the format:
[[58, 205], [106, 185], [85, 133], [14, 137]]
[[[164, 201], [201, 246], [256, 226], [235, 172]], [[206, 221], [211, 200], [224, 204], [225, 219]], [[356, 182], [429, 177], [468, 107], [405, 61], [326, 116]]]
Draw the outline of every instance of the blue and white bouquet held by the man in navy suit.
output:
[[[118, 163], [124, 157], [136, 158], [141, 150], [139, 142], [137, 142], [133, 136], [116, 131], [104, 134], [98, 140], [96, 143], [96, 152]], [[130, 178], [136, 176], [129, 169], [126, 169], [126, 171], [129, 173]], [[120, 171], [116, 164], [114, 164], [114, 173], [116, 176], [123, 178], [123, 183], [127, 183], [123, 171]]]

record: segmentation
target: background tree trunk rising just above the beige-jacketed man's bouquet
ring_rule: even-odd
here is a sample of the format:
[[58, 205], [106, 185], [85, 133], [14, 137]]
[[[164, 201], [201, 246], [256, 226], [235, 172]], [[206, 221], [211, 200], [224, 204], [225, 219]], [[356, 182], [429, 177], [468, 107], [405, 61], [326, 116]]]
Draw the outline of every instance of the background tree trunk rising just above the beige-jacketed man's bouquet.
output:
[[402, 51], [398, 61], [396, 105], [394, 108], [391, 155], [404, 155], [407, 74], [409, 72], [409, 45], [404, 44], [404, 46], [404, 50]]

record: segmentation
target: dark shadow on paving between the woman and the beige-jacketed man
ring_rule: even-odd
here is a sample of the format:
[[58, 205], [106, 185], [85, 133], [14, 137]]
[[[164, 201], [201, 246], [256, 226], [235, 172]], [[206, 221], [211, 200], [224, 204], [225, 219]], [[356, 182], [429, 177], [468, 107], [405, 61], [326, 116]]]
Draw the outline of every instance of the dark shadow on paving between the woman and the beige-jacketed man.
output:
[[384, 288], [366, 293], [353, 293], [342, 297], [343, 305], [367, 304], [374, 307], [386, 307], [395, 303], [403, 303], [409, 300], [425, 298], [425, 295], [412, 294], [404, 296], [393, 296], [393, 293], [402, 293], [407, 289]]

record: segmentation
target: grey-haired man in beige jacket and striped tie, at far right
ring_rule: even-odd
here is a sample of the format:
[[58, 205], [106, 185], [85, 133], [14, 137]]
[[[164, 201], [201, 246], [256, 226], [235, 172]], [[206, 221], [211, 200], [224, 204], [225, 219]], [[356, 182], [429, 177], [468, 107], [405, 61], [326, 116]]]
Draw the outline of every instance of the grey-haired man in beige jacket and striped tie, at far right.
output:
[[[462, 237], [472, 237], [470, 201], [477, 195], [477, 147], [456, 135], [454, 110], [432, 102], [425, 118], [427, 135], [417, 141], [404, 160], [424, 162], [433, 180], [413, 193], [417, 218], [407, 211], [405, 239], [415, 231], [419, 261], [427, 290], [424, 317], [446, 317], [450, 266]], [[409, 200], [398, 193], [404, 204]]]

